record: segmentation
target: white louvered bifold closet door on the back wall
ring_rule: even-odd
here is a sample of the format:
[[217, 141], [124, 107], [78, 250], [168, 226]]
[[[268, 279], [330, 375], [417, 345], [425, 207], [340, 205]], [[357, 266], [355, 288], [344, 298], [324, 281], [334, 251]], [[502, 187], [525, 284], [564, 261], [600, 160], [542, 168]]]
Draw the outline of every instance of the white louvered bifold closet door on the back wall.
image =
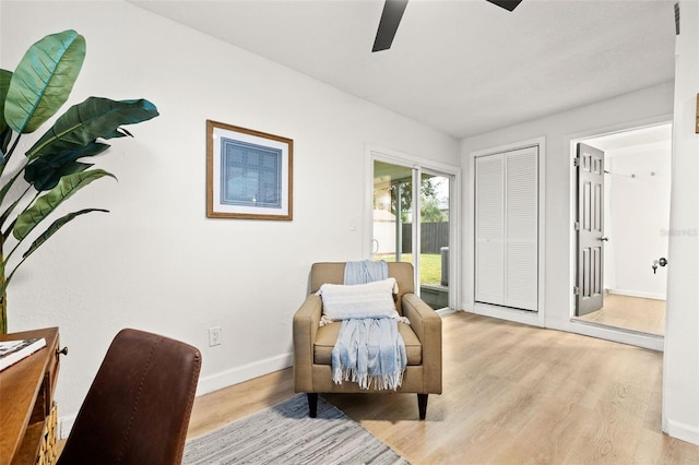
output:
[[476, 301], [537, 310], [538, 148], [476, 158]]

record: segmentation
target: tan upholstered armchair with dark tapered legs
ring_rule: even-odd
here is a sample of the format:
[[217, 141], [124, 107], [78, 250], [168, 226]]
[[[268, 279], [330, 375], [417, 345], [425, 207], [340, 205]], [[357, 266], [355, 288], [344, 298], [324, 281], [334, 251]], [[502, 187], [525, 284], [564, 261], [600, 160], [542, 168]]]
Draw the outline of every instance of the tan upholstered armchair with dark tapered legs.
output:
[[[427, 395], [441, 394], [441, 318], [415, 293], [413, 265], [389, 263], [389, 276], [398, 282], [395, 307], [411, 324], [399, 324], [405, 342], [407, 367], [396, 392], [417, 393], [419, 418], [425, 419]], [[311, 417], [316, 417], [319, 393], [377, 393], [357, 383], [332, 381], [331, 353], [341, 322], [320, 327], [321, 298], [316, 291], [324, 283], [343, 284], [345, 263], [315, 263], [310, 272], [310, 296], [294, 314], [294, 389], [308, 394]]]

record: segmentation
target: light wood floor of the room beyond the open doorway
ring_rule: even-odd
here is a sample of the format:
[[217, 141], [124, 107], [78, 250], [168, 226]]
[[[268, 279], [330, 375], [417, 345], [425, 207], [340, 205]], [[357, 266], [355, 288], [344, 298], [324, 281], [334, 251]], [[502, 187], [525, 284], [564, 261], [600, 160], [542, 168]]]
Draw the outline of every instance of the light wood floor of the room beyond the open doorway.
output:
[[608, 294], [604, 307], [578, 320], [649, 334], [665, 334], [665, 301]]

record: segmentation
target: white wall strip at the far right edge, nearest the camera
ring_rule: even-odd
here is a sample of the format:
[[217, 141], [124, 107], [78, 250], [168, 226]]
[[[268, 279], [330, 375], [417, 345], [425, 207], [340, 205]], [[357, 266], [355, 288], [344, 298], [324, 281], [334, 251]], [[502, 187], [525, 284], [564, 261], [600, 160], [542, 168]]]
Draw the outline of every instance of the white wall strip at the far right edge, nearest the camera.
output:
[[676, 44], [673, 188], [663, 431], [699, 444], [699, 3], [680, 1]]

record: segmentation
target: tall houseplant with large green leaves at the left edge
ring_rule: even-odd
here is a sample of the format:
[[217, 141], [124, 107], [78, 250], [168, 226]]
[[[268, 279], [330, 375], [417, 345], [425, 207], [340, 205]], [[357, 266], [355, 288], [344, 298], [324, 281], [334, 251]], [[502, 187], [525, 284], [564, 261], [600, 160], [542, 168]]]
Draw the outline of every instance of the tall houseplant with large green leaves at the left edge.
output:
[[[29, 47], [14, 72], [0, 69], [0, 334], [8, 332], [7, 288], [17, 267], [78, 216], [106, 212], [80, 210], [48, 224], [75, 192], [97, 179], [115, 178], [84, 159], [109, 147], [104, 140], [131, 135], [122, 126], [158, 115], [145, 99], [88, 97], [59, 116], [24, 158], [12, 158], [20, 139], [68, 100], [84, 58], [85, 38], [63, 31]], [[35, 233], [38, 226], [43, 230]]]

